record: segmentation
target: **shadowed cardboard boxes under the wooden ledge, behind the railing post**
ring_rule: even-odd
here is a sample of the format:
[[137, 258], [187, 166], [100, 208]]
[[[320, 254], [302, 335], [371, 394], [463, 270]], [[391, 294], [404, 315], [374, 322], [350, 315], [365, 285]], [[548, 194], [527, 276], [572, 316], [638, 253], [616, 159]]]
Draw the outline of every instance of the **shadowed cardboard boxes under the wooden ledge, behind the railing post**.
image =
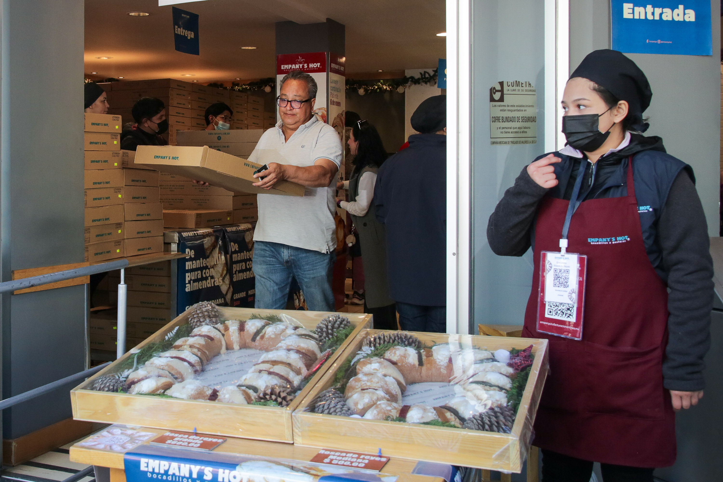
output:
[[[113, 303], [118, 299], [119, 283], [120, 272], [113, 271], [99, 286], [109, 291]], [[174, 319], [174, 309], [171, 307], [171, 262], [127, 268], [125, 283], [128, 285], [126, 348], [129, 349]], [[118, 326], [116, 310], [91, 313], [89, 325], [90, 348], [100, 350], [93, 356], [99, 361], [114, 359]]]

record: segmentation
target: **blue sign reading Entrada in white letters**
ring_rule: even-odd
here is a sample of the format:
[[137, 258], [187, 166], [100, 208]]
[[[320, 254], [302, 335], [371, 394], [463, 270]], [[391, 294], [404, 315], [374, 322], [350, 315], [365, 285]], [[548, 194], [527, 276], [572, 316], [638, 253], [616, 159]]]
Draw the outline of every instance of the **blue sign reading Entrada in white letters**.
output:
[[[639, 1], [639, 0], [638, 0]], [[710, 0], [611, 0], [612, 49], [624, 53], [712, 55]]]

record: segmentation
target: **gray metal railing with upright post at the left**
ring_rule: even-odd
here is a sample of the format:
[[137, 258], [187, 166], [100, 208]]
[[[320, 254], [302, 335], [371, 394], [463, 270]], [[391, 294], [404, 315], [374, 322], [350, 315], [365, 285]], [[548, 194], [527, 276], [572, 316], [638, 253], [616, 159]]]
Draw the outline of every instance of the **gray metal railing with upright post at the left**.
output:
[[[48, 285], [50, 283], [57, 283], [58, 281], [64, 281], [64, 280], [72, 280], [76, 277], [82, 277], [82, 276], [89, 276], [89, 275], [96, 275], [98, 273], [102, 272], [108, 272], [113, 270], [121, 270], [121, 285], [119, 285], [119, 293], [118, 293], [118, 348], [117, 348], [117, 355], [120, 357], [124, 351], [125, 351], [125, 332], [126, 332], [126, 298], [123, 297], [122, 305], [123, 309], [121, 310], [121, 286], [125, 288], [124, 283], [124, 268], [128, 266], [128, 260], [127, 259], [117, 259], [116, 261], [111, 261], [107, 263], [102, 264], [93, 264], [93, 266], [84, 266], [80, 268], [75, 268], [73, 270], [65, 270], [65, 271], [59, 271], [54, 273], [48, 273], [47, 275], [38, 275], [33, 277], [26, 277], [22, 278], [20, 280], [12, 280], [12, 281], [5, 281], [4, 283], [0, 283], [0, 293], [12, 293], [13, 291], [22, 290], [24, 288], [33, 288], [34, 286], [41, 286], [41, 285]], [[123, 290], [123, 293], [125, 294], [125, 289]], [[123, 343], [121, 344], [121, 311], [122, 311], [122, 335], [123, 335]], [[73, 374], [66, 376], [65, 378], [56, 380], [55, 382], [51, 382], [48, 384], [43, 385], [42, 387], [34, 388], [33, 390], [28, 390], [27, 392], [21, 393], [20, 395], [15, 395], [14, 397], [6, 398], [5, 400], [0, 400], [0, 410], [4, 410], [6, 408], [10, 408], [13, 405], [17, 405], [18, 403], [26, 402], [27, 400], [31, 400], [35, 397], [39, 397], [40, 395], [45, 395], [48, 392], [52, 392], [53, 390], [57, 390], [60, 387], [64, 386], [65, 384], [69, 384], [71, 382], [80, 382], [83, 379], [86, 379], [88, 376], [93, 376], [94, 374], [98, 373], [98, 371], [106, 368], [106, 366], [110, 365], [111, 362], [108, 361], [106, 363], [103, 363], [102, 365], [94, 366], [92, 369], [87, 369], [85, 371], [81, 371], [80, 373]], [[77, 482], [80, 481], [80, 479], [87, 477], [93, 473], [93, 465], [90, 465], [87, 468], [84, 468], [83, 470], [80, 470], [77, 473], [74, 473], [70, 477], [64, 479], [64, 481], [61, 482]]]

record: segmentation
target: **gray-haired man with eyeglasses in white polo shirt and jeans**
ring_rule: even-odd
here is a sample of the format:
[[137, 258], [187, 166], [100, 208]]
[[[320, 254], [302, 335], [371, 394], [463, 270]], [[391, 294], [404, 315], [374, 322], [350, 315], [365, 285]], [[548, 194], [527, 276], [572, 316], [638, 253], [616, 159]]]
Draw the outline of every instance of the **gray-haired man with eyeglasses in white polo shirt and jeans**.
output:
[[264, 132], [249, 161], [268, 165], [254, 186], [278, 181], [306, 186], [304, 197], [259, 194], [254, 232], [256, 307], [286, 307], [295, 277], [312, 311], [334, 311], [335, 179], [342, 147], [334, 128], [314, 114], [317, 83], [291, 72], [281, 79], [276, 100], [281, 121]]

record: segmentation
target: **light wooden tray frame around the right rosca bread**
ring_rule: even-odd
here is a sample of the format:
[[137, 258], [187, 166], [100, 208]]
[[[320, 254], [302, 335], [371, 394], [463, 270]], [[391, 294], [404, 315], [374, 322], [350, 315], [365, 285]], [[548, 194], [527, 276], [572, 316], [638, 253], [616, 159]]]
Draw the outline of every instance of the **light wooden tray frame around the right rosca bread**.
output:
[[495, 351], [500, 348], [523, 349], [533, 345], [534, 363], [523, 392], [511, 434], [451, 429], [381, 420], [322, 415], [304, 411], [323, 390], [333, 386], [339, 366], [361, 348], [364, 338], [380, 330], [363, 330], [346, 345], [313, 390], [294, 410], [294, 444], [309, 447], [354, 450], [392, 457], [407, 457], [465, 467], [507, 470], [519, 473], [529, 453], [532, 424], [542, 386], [547, 377], [547, 340], [476, 335], [414, 333], [424, 344], [459, 343], [463, 348], [477, 347]]

